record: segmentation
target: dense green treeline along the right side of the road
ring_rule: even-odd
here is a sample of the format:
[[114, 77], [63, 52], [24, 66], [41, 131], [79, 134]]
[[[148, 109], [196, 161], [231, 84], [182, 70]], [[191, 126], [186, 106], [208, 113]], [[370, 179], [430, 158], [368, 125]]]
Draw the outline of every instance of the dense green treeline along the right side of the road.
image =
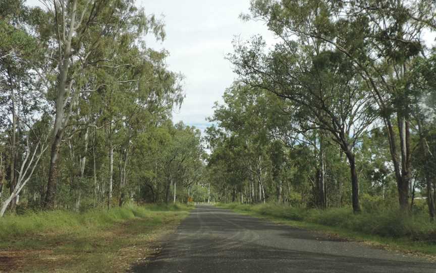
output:
[[228, 55], [238, 78], [207, 129], [218, 198], [434, 219], [434, 5], [252, 1], [242, 18], [276, 44], [236, 40]]

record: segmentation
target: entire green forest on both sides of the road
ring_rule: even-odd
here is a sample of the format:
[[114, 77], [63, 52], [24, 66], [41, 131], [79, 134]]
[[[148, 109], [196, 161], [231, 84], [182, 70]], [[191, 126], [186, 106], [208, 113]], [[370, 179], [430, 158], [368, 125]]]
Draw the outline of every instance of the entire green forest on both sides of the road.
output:
[[[204, 134], [172, 112], [164, 24], [133, 0], [0, 2], [1, 212], [136, 202], [435, 217], [433, 1], [253, 0]], [[242, 23], [242, 22], [241, 22]]]

